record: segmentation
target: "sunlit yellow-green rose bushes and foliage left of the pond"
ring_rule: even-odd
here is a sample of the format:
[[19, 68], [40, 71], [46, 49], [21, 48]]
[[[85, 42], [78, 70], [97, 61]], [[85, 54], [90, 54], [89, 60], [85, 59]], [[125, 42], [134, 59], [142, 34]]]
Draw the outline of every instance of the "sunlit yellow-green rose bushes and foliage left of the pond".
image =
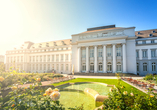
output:
[[[12, 72], [0, 72], [1, 94], [4, 89], [12, 87], [12, 91], [5, 97], [0, 98], [0, 109], [2, 110], [65, 110], [65, 107], [59, 101], [52, 101], [49, 96], [43, 96], [44, 90], [41, 88], [42, 81], [47, 78], [63, 77], [51, 73], [18, 73], [18, 70]], [[45, 78], [44, 78], [45, 77]], [[18, 84], [31, 82], [29, 88], [18, 88]], [[69, 108], [70, 110], [83, 110], [83, 106]]]

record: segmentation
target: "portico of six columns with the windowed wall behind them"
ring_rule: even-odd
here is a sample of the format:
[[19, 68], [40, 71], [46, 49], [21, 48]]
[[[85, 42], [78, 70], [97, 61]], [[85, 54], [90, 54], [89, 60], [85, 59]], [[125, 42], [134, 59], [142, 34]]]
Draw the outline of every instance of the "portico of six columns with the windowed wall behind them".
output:
[[[110, 48], [112, 51], [109, 51], [109, 49], [107, 51], [106, 49], [108, 47], [109, 48], [112, 47]], [[118, 50], [119, 48], [120, 48], [120, 51]], [[126, 73], [127, 72], [126, 71], [126, 44], [125, 43], [104, 44], [104, 45], [94, 45], [94, 46], [79, 46], [78, 56], [79, 56], [78, 57], [79, 72], [86, 72], [86, 73], [89, 73], [89, 72]]]

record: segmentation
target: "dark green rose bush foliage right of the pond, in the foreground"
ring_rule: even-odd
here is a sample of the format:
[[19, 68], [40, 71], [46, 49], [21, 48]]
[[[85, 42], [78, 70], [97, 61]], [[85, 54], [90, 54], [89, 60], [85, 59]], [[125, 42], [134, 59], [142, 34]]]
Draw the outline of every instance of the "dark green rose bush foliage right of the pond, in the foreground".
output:
[[[130, 88], [131, 89], [131, 88]], [[109, 98], [103, 103], [103, 109], [109, 110], [156, 110], [157, 94], [149, 90], [148, 94], [143, 96], [134, 92], [127, 92], [125, 87], [118, 80], [117, 88], [113, 88], [109, 93]]]

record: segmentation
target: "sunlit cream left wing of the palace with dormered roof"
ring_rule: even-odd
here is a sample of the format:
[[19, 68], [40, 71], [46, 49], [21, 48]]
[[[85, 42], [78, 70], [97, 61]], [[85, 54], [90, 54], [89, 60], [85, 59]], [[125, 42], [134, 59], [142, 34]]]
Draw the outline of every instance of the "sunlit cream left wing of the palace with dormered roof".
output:
[[6, 70], [10, 67], [25, 72], [71, 72], [71, 39], [32, 43], [6, 52]]

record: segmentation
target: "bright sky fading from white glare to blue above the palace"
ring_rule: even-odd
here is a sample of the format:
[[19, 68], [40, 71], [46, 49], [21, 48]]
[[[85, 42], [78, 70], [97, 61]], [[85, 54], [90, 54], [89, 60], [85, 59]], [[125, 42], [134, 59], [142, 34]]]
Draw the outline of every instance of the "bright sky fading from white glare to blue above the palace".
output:
[[157, 0], [0, 0], [0, 55], [34, 43], [70, 39], [115, 24], [157, 29]]

